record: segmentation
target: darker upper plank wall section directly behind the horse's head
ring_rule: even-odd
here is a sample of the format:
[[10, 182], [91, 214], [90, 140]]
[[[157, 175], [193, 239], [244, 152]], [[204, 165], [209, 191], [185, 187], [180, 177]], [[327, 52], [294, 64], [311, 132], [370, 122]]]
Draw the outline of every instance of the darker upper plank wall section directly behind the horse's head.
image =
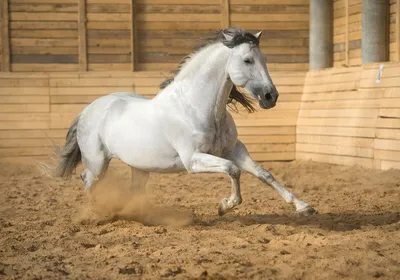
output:
[[[228, 2], [229, 7], [224, 7]], [[198, 0], [189, 5], [187, 1], [139, 0], [136, 9], [139, 70], [176, 67], [201, 43], [199, 37], [209, 36], [228, 22], [254, 33], [264, 30], [261, 46], [270, 69], [308, 69], [308, 1]], [[229, 21], [221, 17], [225, 10]]]

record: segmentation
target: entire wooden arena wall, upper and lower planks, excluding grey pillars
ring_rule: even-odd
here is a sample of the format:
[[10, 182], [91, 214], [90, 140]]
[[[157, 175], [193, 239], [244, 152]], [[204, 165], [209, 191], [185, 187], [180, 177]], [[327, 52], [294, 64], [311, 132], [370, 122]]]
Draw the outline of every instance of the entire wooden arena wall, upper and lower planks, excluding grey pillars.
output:
[[400, 5], [389, 0], [388, 61], [362, 65], [361, 0], [333, 1], [334, 68], [308, 71], [308, 0], [8, 0], [0, 5], [0, 157], [42, 157], [74, 116], [115, 91], [148, 97], [200, 38], [238, 25], [281, 93], [273, 110], [234, 113], [259, 161], [313, 159], [400, 168], [396, 71]]

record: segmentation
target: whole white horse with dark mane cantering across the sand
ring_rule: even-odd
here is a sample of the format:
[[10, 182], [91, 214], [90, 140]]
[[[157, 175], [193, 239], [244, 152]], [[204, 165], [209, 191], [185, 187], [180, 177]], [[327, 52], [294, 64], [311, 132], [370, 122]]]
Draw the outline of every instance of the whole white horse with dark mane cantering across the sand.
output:
[[153, 99], [127, 92], [98, 98], [75, 119], [58, 163], [45, 166], [47, 171], [69, 178], [83, 162], [81, 178], [89, 191], [109, 161], [119, 158], [131, 167], [134, 192], [144, 192], [150, 172], [225, 173], [232, 192], [219, 204], [223, 215], [242, 202], [239, 178], [244, 170], [294, 204], [299, 215], [316, 213], [251, 159], [226, 110], [235, 101], [254, 109], [236, 87], [250, 92], [263, 109], [276, 104], [278, 92], [259, 48], [261, 33], [233, 27], [218, 31], [185, 59]]

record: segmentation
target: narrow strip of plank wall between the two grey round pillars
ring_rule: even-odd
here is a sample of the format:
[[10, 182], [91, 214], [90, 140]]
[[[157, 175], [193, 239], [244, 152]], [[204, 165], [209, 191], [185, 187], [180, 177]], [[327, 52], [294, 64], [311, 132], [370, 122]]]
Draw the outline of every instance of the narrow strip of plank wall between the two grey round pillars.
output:
[[334, 67], [361, 65], [361, 2], [362, 0], [333, 2]]

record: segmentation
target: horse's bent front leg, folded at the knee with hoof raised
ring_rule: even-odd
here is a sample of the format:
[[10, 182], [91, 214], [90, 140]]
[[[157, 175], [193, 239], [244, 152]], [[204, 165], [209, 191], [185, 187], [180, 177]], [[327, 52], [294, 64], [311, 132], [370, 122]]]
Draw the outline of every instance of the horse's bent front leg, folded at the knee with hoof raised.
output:
[[219, 158], [204, 153], [195, 153], [190, 161], [189, 172], [191, 173], [225, 173], [231, 178], [231, 195], [221, 200], [218, 214], [224, 215], [235, 206], [242, 203], [240, 194], [240, 169], [230, 160]]

